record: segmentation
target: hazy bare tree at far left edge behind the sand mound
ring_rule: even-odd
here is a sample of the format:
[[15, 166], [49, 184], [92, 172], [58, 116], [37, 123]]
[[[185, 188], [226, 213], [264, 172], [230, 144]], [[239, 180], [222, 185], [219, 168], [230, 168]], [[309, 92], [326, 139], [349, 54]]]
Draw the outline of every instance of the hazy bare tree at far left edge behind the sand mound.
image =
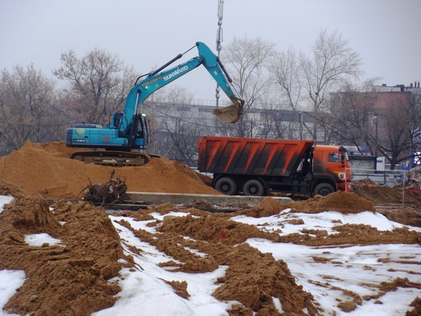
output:
[[18, 150], [26, 141], [60, 140], [62, 117], [55, 102], [55, 83], [34, 65], [17, 65], [0, 77], [1, 154]]

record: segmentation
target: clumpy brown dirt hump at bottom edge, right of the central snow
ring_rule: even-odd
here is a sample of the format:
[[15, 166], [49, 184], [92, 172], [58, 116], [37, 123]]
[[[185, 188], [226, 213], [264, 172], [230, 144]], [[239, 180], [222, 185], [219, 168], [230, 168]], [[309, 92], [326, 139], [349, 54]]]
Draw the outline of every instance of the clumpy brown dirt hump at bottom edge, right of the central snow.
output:
[[213, 293], [216, 298], [239, 301], [258, 312], [257, 315], [279, 315], [272, 300], [279, 298], [286, 315], [319, 315], [312, 294], [303, 291], [286, 263], [276, 261], [272, 254], [262, 254], [248, 244], [241, 244], [218, 259], [229, 268], [218, 279], [221, 285]]

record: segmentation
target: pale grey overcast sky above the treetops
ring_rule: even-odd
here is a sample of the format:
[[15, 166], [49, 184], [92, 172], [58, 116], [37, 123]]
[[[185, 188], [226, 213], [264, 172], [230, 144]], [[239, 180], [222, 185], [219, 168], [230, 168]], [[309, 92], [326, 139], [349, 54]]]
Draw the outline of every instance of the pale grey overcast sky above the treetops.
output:
[[[217, 13], [218, 0], [0, 0], [0, 70], [33, 62], [53, 77], [61, 53], [100, 48], [145, 74], [196, 41], [216, 53]], [[421, 79], [420, 0], [225, 0], [222, 29], [222, 49], [247, 36], [306, 53], [321, 29], [337, 30], [361, 54], [366, 77], [389, 86]], [[173, 84], [215, 99], [204, 68]]]

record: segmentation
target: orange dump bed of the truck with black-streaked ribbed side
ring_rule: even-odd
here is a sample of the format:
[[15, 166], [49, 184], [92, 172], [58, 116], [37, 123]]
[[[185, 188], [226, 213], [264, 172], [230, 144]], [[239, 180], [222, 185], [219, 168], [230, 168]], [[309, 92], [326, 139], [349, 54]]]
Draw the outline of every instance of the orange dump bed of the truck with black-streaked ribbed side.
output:
[[291, 176], [312, 140], [206, 136], [199, 140], [199, 171], [256, 176]]

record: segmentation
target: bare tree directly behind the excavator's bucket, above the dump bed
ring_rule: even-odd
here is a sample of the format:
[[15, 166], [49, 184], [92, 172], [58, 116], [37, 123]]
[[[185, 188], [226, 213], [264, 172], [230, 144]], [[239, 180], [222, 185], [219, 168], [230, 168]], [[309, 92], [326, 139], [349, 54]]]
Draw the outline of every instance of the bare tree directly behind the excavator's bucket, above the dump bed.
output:
[[260, 37], [239, 39], [234, 37], [231, 43], [222, 50], [222, 60], [239, 88], [239, 93], [246, 100], [244, 114], [236, 124], [218, 122], [218, 130], [225, 135], [250, 137], [256, 119], [250, 117], [250, 108], [256, 103], [262, 103], [270, 91], [270, 80], [267, 72], [267, 62], [274, 54], [274, 44], [263, 41]]

